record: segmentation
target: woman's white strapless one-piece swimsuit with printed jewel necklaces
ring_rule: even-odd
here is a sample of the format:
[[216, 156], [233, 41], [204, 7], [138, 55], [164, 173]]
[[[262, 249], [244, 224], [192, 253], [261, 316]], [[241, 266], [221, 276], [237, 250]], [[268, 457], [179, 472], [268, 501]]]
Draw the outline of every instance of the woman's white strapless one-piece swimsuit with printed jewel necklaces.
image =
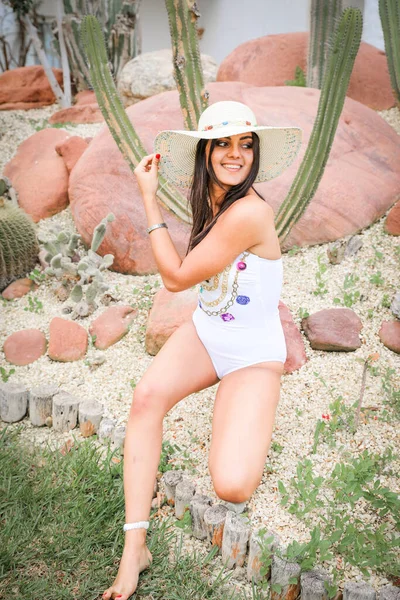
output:
[[282, 258], [246, 251], [200, 284], [192, 319], [219, 379], [260, 362], [286, 361], [278, 310], [282, 283]]

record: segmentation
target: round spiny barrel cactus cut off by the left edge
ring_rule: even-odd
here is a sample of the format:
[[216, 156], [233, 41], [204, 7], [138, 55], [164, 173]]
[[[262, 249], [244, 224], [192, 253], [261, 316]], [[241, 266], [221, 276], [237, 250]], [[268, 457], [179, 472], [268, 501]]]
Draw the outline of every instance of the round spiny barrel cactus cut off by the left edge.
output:
[[0, 292], [34, 268], [39, 253], [35, 225], [20, 208], [0, 197]]

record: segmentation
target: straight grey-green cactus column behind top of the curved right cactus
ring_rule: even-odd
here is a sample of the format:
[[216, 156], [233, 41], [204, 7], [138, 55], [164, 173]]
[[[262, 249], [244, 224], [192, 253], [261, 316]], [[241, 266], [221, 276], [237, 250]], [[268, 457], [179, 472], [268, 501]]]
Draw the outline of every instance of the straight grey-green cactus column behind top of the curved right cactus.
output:
[[342, 0], [311, 0], [307, 87], [322, 88], [332, 36], [341, 13]]

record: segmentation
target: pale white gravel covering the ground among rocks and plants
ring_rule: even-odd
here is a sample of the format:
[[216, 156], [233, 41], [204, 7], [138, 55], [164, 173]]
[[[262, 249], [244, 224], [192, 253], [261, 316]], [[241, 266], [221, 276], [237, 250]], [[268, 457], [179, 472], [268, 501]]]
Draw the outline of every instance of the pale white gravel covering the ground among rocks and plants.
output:
[[[40, 110], [3, 111], [0, 112], [0, 170], [15, 154], [17, 146], [35, 132], [35, 124], [41, 124], [58, 106], [53, 105]], [[382, 111], [381, 116], [390, 123], [400, 135], [400, 111], [391, 109]], [[103, 125], [66, 126], [65, 129], [82, 137], [94, 136]], [[281, 401], [279, 403], [273, 442], [283, 447], [278, 453], [270, 450], [267, 459], [268, 468], [263, 480], [250, 500], [250, 517], [253, 526], [265, 524], [277, 531], [284, 544], [292, 540], [304, 542], [309, 539], [309, 529], [293, 515], [280, 506], [280, 494], [277, 489], [278, 480], [288, 487], [290, 478], [295, 475], [299, 460], [311, 458], [315, 471], [326, 477], [340, 460], [341, 452], [350, 450], [354, 456], [367, 448], [370, 452], [383, 452], [386, 448], [393, 451], [399, 449], [398, 422], [385, 423], [374, 420], [373, 415], [379, 415], [384, 407], [384, 394], [381, 378], [368, 376], [363, 400], [364, 406], [378, 406], [378, 411], [371, 411], [367, 422], [362, 422], [354, 437], [348, 434], [338, 434], [336, 448], [320, 444], [318, 452], [311, 455], [313, 435], [316, 421], [323, 413], [329, 412], [329, 403], [341, 395], [348, 406], [359, 397], [363, 365], [370, 354], [378, 352], [379, 360], [376, 366], [385, 370], [395, 370], [392, 383], [395, 389], [400, 387], [400, 355], [385, 348], [378, 337], [382, 320], [393, 320], [390, 309], [382, 306], [382, 299], [387, 295], [389, 300], [399, 289], [400, 271], [400, 238], [389, 236], [384, 232], [385, 217], [362, 232], [363, 247], [356, 257], [345, 259], [339, 265], [331, 265], [326, 256], [327, 245], [303, 248], [297, 254], [283, 256], [284, 286], [282, 300], [290, 308], [296, 323], [300, 324], [299, 309], [306, 309], [312, 314], [322, 308], [332, 308], [333, 299], [342, 297], [341, 289], [346, 274], [356, 274], [359, 281], [356, 289], [361, 293], [361, 299], [353, 305], [353, 310], [363, 323], [361, 331], [361, 347], [355, 352], [324, 352], [315, 351], [303, 336], [308, 362], [298, 371], [287, 374], [282, 379]], [[61, 226], [65, 230], [75, 231], [69, 209], [55, 215], [51, 219], [38, 224], [38, 234], [42, 238], [49, 235], [50, 227]], [[376, 251], [383, 254], [383, 259], [377, 257]], [[323, 297], [313, 294], [316, 289], [315, 274], [318, 270], [317, 257], [322, 255], [328, 265], [323, 278], [326, 281], [328, 293]], [[370, 277], [380, 271], [382, 285], [370, 282]], [[38, 361], [25, 367], [15, 367], [16, 373], [10, 381], [21, 381], [29, 387], [44, 384], [49, 381], [57, 382], [81, 398], [94, 398], [105, 406], [106, 416], [116, 418], [118, 424], [125, 423], [132, 400], [132, 386], [138, 383], [153, 357], [148, 355], [144, 346], [144, 334], [148, 310], [151, 307], [154, 293], [162, 285], [159, 275], [132, 276], [108, 272], [106, 279], [111, 285], [109, 290], [121, 303], [139, 307], [139, 316], [133, 322], [129, 333], [117, 344], [105, 352], [90, 347], [86, 358], [101, 354], [106, 357], [104, 364], [91, 370], [86, 360], [72, 363], [59, 363], [43, 356]], [[28, 297], [13, 302], [0, 301], [0, 347], [5, 338], [20, 329], [38, 328], [46, 336], [49, 333], [49, 323], [55, 316], [69, 318], [62, 313], [65, 304], [58, 301], [52, 291], [52, 280], [42, 284], [34, 292], [34, 296], [43, 304], [38, 312], [29, 312]], [[135, 290], [138, 290], [135, 293]], [[79, 322], [88, 327], [89, 323], [104, 310], [100, 305], [97, 311], [87, 319]], [[0, 366], [7, 371], [11, 368], [0, 351]], [[332, 391], [330, 396], [327, 388], [317, 378], [319, 374]], [[177, 465], [185, 464], [195, 471], [198, 489], [204, 493], [213, 492], [211, 478], [207, 467], [207, 456], [210, 445], [211, 419], [213, 401], [217, 385], [202, 392], [192, 394], [180, 402], [165, 418], [164, 439], [179, 445], [182, 452], [174, 458]], [[18, 426], [20, 426], [18, 424]], [[79, 432], [73, 434], [56, 434], [47, 428], [33, 428], [27, 419], [22, 422], [23, 436], [32, 443], [49, 441], [54, 446], [64, 443], [74, 436], [80, 438]], [[14, 426], [12, 426], [14, 427]], [[342, 446], [342, 449], [341, 449]], [[184, 452], [186, 455], [184, 455]], [[393, 473], [399, 472], [399, 461], [392, 463]], [[399, 480], [394, 475], [382, 474], [382, 485], [387, 485], [392, 491], [400, 492]], [[170, 509], [166, 509], [168, 512]], [[364, 519], [372, 519], [367, 514], [362, 503], [357, 505], [356, 514]], [[204, 548], [202, 543], [189, 539], [187, 544]], [[216, 563], [217, 564], [217, 563]], [[324, 563], [325, 568], [331, 564]], [[240, 570], [238, 585], [241, 582]], [[354, 567], [348, 567], [344, 580], [366, 579]], [[236, 579], [235, 579], [236, 580]], [[388, 581], [374, 574], [369, 583], [378, 589]], [[246, 586], [245, 586], [246, 587]], [[248, 588], [246, 588], [248, 589]]]

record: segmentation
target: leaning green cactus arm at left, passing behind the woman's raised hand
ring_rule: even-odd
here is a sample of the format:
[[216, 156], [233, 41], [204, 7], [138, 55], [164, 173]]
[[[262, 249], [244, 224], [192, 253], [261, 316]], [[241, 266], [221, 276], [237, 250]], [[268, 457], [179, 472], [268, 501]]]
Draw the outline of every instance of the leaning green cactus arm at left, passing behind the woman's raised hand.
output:
[[[90, 78], [97, 102], [122, 156], [133, 171], [147, 154], [125, 112], [108, 67], [107, 51], [96, 17], [85, 16], [81, 27], [82, 41], [89, 61]], [[191, 222], [186, 198], [160, 176], [158, 197], [162, 204], [183, 221]]]

